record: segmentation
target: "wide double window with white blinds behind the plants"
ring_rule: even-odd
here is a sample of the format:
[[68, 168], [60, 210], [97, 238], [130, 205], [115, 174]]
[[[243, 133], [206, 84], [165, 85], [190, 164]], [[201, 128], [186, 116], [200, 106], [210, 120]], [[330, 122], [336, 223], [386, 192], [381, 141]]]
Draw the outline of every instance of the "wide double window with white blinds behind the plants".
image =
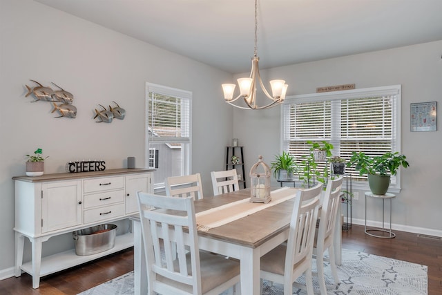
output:
[[[308, 140], [333, 144], [333, 155], [349, 159], [352, 151], [381, 155], [401, 151], [401, 86], [364, 88], [287, 97], [282, 107], [282, 148], [299, 159]], [[321, 163], [323, 169], [325, 163]], [[346, 168], [365, 188], [367, 177]], [[400, 171], [392, 189], [400, 189]]]

